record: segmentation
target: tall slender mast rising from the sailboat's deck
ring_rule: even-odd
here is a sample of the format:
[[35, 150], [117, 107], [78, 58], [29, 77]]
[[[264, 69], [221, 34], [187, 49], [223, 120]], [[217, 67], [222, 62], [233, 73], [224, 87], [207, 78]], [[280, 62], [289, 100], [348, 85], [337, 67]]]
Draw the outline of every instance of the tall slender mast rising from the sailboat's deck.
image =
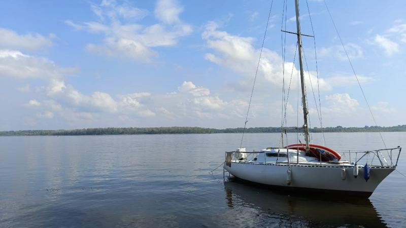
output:
[[300, 65], [300, 83], [301, 83], [301, 102], [303, 104], [303, 131], [304, 139], [306, 140], [306, 151], [309, 150], [309, 128], [308, 128], [308, 108], [306, 105], [306, 89], [304, 89], [304, 77], [303, 77], [303, 61], [301, 56], [301, 34], [300, 34], [300, 16], [299, 16], [299, 0], [295, 0], [296, 8], [296, 27], [297, 27], [297, 47], [299, 51], [299, 65]]

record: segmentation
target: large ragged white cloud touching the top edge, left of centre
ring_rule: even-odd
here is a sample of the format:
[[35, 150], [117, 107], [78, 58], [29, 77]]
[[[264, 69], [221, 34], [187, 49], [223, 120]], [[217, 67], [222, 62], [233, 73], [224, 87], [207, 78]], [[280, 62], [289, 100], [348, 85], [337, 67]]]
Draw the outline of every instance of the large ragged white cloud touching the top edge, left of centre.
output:
[[155, 17], [160, 23], [150, 26], [127, 20], [148, 15], [147, 10], [132, 7], [127, 2], [103, 1], [100, 5], [92, 5], [91, 10], [99, 21], [75, 23], [66, 20], [65, 23], [75, 30], [103, 34], [103, 44], [88, 44], [86, 49], [111, 57], [150, 62], [158, 55], [154, 47], [174, 46], [181, 37], [192, 32], [192, 26], [179, 18], [183, 7], [177, 1], [158, 1]]

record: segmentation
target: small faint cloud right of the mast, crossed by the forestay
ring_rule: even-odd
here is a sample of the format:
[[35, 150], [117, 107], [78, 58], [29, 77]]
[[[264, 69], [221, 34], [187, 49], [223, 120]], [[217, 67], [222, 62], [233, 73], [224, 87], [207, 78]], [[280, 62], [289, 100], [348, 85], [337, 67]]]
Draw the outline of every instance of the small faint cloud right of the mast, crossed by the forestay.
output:
[[[344, 46], [347, 50], [348, 57], [351, 60], [363, 58], [362, 48], [356, 44], [348, 43]], [[320, 48], [317, 53], [318, 57], [335, 57], [342, 61], [347, 61], [347, 55], [341, 45]]]

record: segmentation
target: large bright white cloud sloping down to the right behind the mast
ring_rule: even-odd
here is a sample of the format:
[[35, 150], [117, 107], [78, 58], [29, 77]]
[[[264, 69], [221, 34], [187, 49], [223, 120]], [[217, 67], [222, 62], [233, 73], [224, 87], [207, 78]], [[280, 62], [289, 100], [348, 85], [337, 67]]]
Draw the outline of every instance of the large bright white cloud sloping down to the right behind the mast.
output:
[[[202, 37], [207, 41], [207, 46], [214, 51], [214, 53], [206, 54], [207, 60], [247, 77], [252, 77], [255, 73], [260, 50], [252, 46], [254, 41], [252, 37], [241, 37], [220, 31], [215, 22], [209, 22], [206, 25]], [[285, 62], [285, 73], [283, 74], [282, 63], [282, 57], [278, 53], [264, 48], [258, 69], [259, 80], [265, 79], [272, 85], [280, 87], [283, 82], [282, 75], [285, 75], [285, 82], [289, 82], [292, 69], [293, 75], [296, 75], [298, 71], [292, 62]], [[310, 80], [313, 84], [317, 83], [314, 72], [305, 71], [305, 74], [308, 84], [310, 84]], [[319, 79], [319, 83], [323, 90], [332, 88], [324, 79]], [[298, 88], [296, 80], [292, 81], [291, 88]]]

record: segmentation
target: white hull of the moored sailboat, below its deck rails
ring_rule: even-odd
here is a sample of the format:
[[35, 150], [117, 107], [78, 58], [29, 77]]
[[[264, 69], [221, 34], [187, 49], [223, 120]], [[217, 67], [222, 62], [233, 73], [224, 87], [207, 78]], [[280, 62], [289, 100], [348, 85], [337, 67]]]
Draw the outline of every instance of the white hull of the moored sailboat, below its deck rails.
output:
[[[346, 169], [345, 180], [342, 169]], [[271, 187], [287, 187], [290, 189], [308, 189], [313, 193], [329, 192], [343, 195], [359, 195], [369, 197], [381, 181], [395, 167], [370, 167], [370, 178], [365, 181], [363, 169], [359, 168], [358, 177], [353, 176], [353, 166], [318, 166], [291, 164], [291, 183], [287, 183], [289, 165], [275, 163], [252, 163], [232, 161], [224, 168], [233, 176], [253, 183]]]

